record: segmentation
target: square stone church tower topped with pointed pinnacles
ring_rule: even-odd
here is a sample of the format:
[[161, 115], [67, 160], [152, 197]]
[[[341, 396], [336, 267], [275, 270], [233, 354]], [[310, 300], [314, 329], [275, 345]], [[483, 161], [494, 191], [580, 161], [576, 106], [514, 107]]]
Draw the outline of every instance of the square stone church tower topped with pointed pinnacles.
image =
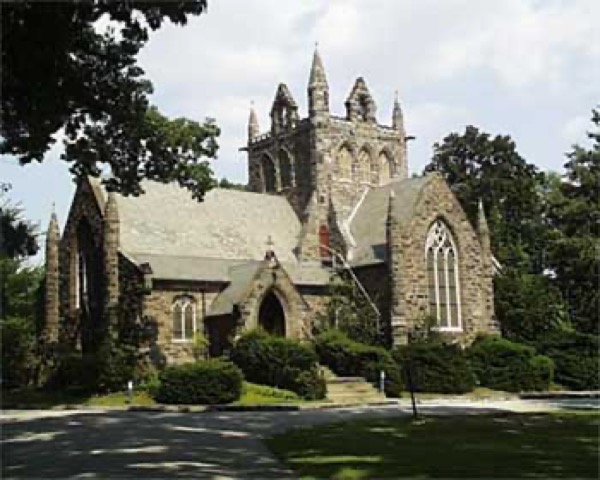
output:
[[307, 85], [308, 117], [285, 84], [271, 108], [271, 128], [258, 133], [248, 124], [248, 181], [251, 191], [285, 196], [303, 230], [300, 260], [320, 261], [327, 247], [345, 256], [352, 246], [352, 212], [375, 187], [407, 176], [406, 134], [396, 99], [392, 125], [377, 121], [377, 106], [364, 78], [354, 82], [345, 115], [332, 115], [329, 84], [321, 55], [313, 54]]

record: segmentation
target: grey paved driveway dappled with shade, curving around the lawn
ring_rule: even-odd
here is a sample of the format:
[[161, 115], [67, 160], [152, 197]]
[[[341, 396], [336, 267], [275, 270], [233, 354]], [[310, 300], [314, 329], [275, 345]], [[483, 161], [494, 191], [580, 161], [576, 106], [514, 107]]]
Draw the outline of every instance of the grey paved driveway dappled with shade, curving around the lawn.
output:
[[[428, 414], [526, 404], [425, 404]], [[539, 407], [538, 407], [539, 409]], [[290, 478], [261, 439], [289, 428], [409, 415], [400, 407], [300, 412], [4, 412], [3, 478]], [[356, 441], [360, 441], [357, 439]]]

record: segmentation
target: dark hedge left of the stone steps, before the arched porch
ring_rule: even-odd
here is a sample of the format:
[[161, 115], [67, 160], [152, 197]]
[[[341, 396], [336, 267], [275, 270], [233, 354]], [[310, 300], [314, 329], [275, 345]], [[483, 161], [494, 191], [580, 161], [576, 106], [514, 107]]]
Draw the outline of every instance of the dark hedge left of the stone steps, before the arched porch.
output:
[[296, 340], [248, 332], [233, 346], [231, 360], [249, 382], [291, 390], [308, 400], [325, 397], [317, 354]]

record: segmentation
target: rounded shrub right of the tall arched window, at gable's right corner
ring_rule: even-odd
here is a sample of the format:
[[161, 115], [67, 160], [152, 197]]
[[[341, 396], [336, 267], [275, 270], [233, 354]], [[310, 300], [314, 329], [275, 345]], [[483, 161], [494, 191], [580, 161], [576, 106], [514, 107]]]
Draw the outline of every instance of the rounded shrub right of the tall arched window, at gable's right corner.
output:
[[547, 390], [553, 364], [539, 358], [533, 347], [497, 336], [479, 337], [468, 349], [468, 358], [479, 384], [508, 392]]

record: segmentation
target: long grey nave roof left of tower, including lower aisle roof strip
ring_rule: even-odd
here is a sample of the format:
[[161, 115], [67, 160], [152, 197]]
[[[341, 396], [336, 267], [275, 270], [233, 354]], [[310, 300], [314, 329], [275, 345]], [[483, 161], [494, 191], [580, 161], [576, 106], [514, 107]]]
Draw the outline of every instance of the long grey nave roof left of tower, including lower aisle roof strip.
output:
[[[103, 207], [106, 192], [90, 184]], [[239, 268], [258, 268], [271, 237], [278, 260], [296, 285], [326, 285], [320, 264], [298, 263], [300, 222], [283, 197], [210, 190], [203, 202], [176, 184], [144, 182], [143, 195], [116, 195], [120, 250], [155, 279], [230, 282]]]

